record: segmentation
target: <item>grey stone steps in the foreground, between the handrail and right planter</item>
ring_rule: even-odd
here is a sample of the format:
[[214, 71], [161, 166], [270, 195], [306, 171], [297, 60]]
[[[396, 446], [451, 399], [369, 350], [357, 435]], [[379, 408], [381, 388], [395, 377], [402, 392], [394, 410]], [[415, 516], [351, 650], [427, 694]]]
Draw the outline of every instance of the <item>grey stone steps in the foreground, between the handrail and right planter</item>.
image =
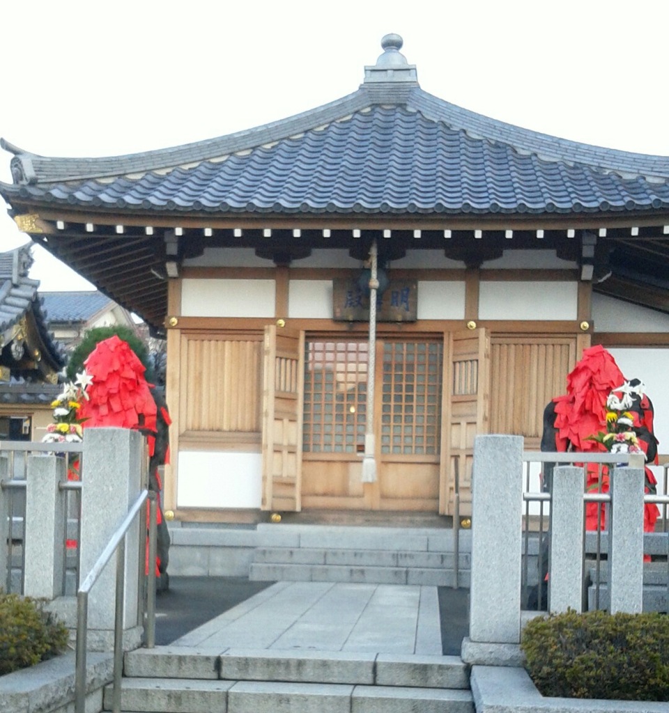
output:
[[[103, 709], [112, 707], [112, 691]], [[123, 713], [474, 713], [459, 657], [158, 647], [126, 654]]]

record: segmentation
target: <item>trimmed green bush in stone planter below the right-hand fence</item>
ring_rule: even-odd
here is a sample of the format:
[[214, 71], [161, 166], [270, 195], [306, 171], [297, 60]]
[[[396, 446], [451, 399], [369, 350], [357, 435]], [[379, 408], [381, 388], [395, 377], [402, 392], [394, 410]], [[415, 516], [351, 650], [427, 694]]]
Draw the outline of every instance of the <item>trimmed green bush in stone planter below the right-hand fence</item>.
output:
[[526, 625], [526, 669], [544, 696], [669, 701], [669, 617], [588, 612]]

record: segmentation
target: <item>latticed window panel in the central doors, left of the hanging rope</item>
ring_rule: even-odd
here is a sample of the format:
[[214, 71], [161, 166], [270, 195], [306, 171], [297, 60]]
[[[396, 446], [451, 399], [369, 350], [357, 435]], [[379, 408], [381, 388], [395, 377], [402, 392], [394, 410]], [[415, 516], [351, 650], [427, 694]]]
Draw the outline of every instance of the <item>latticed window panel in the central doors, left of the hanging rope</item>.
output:
[[367, 342], [305, 345], [303, 450], [356, 453], [364, 443]]

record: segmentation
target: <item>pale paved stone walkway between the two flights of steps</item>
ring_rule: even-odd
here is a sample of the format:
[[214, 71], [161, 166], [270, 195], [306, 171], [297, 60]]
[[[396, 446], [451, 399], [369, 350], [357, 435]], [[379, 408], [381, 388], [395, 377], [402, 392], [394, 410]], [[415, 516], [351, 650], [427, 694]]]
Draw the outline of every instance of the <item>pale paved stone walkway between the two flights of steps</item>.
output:
[[278, 582], [171, 646], [441, 655], [437, 590]]

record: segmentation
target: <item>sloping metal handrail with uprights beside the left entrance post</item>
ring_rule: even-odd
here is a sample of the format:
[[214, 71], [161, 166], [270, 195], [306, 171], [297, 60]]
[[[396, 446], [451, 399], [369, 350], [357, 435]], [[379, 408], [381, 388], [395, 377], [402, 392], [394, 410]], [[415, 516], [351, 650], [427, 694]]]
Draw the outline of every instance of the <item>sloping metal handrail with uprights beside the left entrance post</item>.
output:
[[[116, 552], [116, 600], [114, 605], [114, 656], [112, 711], [121, 711], [121, 674], [123, 673], [123, 619], [125, 605], [123, 600], [123, 565], [126, 560], [126, 535], [143, 504], [149, 501], [149, 560], [148, 560], [148, 595], [146, 607], [145, 635], [146, 646], [155, 645], [155, 520], [157, 501], [153, 491], [143, 490], [128, 511], [128, 515], [111, 536], [106, 548], [96, 560], [91, 571], [77, 592], [77, 629], [76, 629], [76, 671], [75, 671], [75, 713], [86, 711], [86, 640], [88, 637], [88, 594], [97, 582], [104, 568]], [[141, 539], [145, 535], [140, 535]], [[150, 553], [153, 552], [153, 559]]]

